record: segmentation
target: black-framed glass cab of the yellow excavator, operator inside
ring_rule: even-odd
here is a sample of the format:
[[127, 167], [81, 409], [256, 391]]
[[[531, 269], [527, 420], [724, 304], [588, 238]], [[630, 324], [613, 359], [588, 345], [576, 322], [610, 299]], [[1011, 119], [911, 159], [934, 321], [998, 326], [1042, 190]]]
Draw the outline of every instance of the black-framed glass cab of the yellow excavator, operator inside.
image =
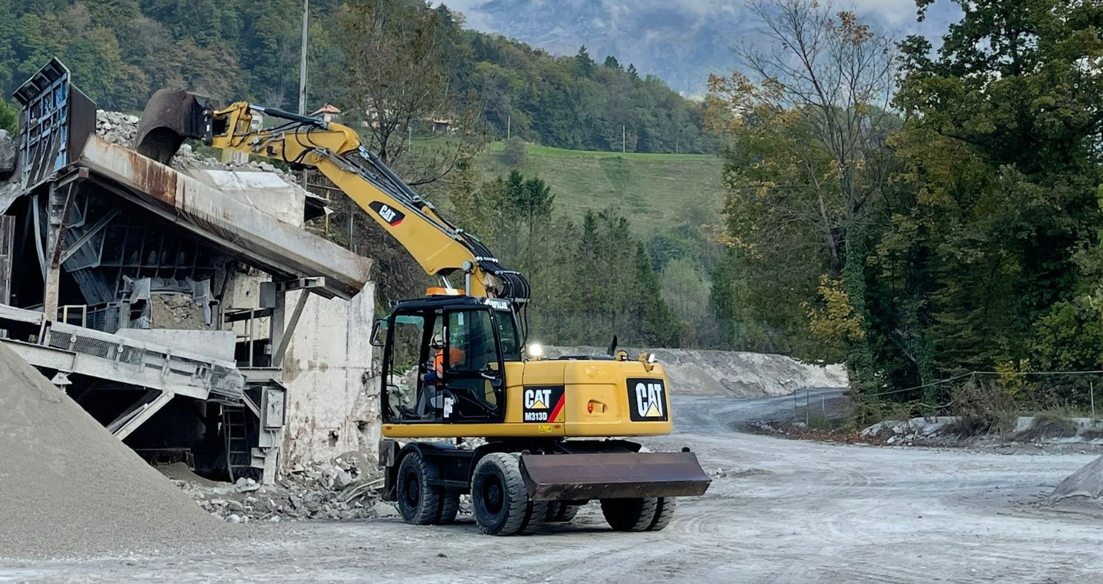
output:
[[521, 361], [513, 311], [484, 299], [429, 296], [399, 304], [376, 330], [385, 423], [504, 421], [505, 363]]

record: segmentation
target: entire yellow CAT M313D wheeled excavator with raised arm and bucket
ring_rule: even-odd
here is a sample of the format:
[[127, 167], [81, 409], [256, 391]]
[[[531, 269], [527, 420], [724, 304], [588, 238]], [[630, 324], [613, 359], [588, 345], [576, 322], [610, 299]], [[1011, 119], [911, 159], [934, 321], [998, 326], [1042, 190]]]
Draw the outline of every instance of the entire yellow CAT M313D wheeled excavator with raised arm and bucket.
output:
[[[279, 124], [261, 129], [257, 114]], [[384, 499], [405, 521], [451, 523], [470, 493], [479, 528], [511, 535], [570, 521], [599, 500], [619, 531], [670, 523], [675, 498], [704, 495], [697, 457], [625, 438], [670, 434], [670, 386], [646, 353], [544, 359], [526, 346], [529, 286], [364, 148], [343, 125], [244, 102], [226, 108], [162, 89], [139, 152], [169, 162], [188, 138], [318, 169], [441, 286], [375, 323], [383, 349]], [[474, 439], [472, 439], [474, 438]]]

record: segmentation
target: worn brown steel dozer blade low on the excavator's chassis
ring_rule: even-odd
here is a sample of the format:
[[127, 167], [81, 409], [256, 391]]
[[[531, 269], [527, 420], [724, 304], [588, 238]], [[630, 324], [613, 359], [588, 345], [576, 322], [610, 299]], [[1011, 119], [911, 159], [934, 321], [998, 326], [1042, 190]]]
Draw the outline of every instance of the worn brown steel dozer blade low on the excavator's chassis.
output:
[[537, 501], [696, 497], [711, 482], [693, 453], [524, 454], [521, 475]]

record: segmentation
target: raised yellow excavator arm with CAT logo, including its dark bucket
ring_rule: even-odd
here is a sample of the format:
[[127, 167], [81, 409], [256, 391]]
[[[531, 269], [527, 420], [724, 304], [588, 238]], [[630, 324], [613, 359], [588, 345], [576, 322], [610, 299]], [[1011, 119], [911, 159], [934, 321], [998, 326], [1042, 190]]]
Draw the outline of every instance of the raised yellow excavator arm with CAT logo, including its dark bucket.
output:
[[[260, 129], [255, 114], [283, 124]], [[502, 267], [482, 242], [442, 217], [347, 126], [246, 102], [219, 109], [211, 99], [184, 91], [154, 94], [138, 128], [138, 151], [168, 163], [186, 138], [202, 139], [222, 150], [315, 168], [393, 235], [430, 276], [448, 283], [448, 277], [462, 274], [468, 295], [504, 298], [515, 309], [528, 301], [528, 283], [521, 274]]]

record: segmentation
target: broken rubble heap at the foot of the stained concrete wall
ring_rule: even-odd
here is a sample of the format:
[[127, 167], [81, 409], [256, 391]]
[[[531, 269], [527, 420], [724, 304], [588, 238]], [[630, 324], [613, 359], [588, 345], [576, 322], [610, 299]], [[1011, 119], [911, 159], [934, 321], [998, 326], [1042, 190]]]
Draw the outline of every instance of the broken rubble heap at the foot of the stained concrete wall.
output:
[[231, 523], [393, 517], [394, 505], [379, 500], [383, 479], [365, 463], [355, 455], [339, 457], [333, 464], [297, 468], [274, 486], [246, 478], [216, 484], [180, 466], [163, 471], [205, 511]]

